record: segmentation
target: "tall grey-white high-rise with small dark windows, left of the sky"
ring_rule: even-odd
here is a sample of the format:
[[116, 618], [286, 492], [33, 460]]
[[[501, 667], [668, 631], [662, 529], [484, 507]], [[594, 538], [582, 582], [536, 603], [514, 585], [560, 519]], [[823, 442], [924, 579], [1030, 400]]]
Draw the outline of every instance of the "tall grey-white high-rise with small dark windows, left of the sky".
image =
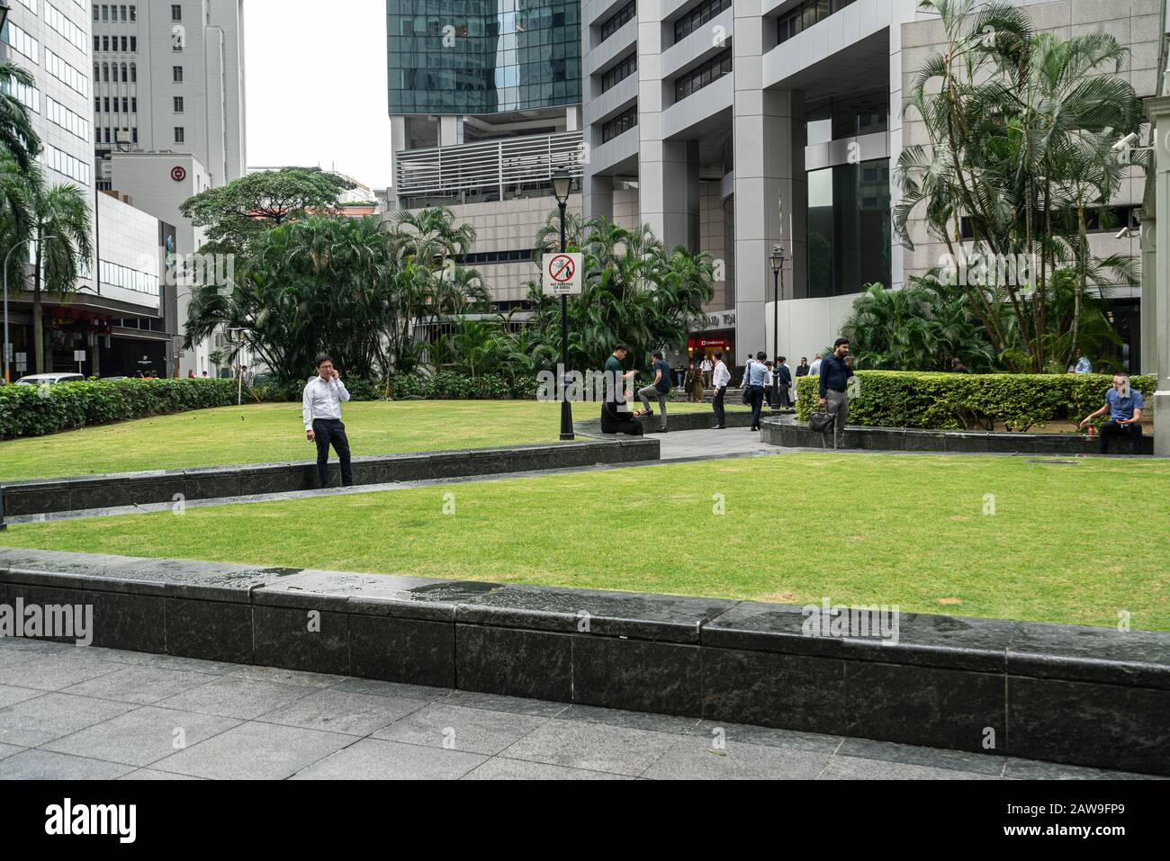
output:
[[243, 0], [94, 2], [89, 14], [101, 187], [119, 150], [191, 153], [215, 186], [243, 175]]

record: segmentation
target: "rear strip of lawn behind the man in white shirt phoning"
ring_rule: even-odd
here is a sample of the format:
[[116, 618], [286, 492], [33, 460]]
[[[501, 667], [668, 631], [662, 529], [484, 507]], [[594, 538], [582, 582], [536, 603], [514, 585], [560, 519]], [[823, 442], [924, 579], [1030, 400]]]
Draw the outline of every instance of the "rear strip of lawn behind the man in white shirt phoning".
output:
[[[574, 405], [573, 418], [600, 407]], [[670, 404], [668, 411], [708, 409]], [[365, 401], [342, 409], [355, 454], [555, 442], [560, 405], [541, 401]], [[245, 404], [0, 442], [0, 481], [267, 463], [316, 456], [300, 404]]]

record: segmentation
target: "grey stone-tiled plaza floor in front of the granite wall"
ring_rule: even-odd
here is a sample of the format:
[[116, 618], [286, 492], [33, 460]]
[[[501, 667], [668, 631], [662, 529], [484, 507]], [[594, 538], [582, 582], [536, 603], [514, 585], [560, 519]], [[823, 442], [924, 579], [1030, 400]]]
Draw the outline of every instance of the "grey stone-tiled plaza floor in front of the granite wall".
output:
[[0, 778], [1144, 776], [344, 676], [0, 639]]

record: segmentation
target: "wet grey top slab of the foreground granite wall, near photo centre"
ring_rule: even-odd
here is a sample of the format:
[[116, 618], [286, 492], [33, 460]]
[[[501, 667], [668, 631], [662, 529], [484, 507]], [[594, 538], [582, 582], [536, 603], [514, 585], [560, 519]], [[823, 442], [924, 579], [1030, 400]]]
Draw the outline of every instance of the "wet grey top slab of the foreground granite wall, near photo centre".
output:
[[736, 605], [717, 598], [498, 585], [463, 600], [460, 622], [684, 643], [697, 643], [700, 627]]

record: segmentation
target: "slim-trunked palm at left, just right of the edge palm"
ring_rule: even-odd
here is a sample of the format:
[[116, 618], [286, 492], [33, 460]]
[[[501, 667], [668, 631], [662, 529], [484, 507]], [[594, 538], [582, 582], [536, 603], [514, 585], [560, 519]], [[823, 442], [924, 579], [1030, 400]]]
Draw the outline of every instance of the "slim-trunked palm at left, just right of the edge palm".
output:
[[33, 202], [33, 356], [36, 372], [44, 370], [44, 311], [41, 290], [62, 298], [77, 289], [81, 261], [94, 254], [90, 244], [89, 198], [73, 184], [44, 187], [37, 171], [29, 172]]

